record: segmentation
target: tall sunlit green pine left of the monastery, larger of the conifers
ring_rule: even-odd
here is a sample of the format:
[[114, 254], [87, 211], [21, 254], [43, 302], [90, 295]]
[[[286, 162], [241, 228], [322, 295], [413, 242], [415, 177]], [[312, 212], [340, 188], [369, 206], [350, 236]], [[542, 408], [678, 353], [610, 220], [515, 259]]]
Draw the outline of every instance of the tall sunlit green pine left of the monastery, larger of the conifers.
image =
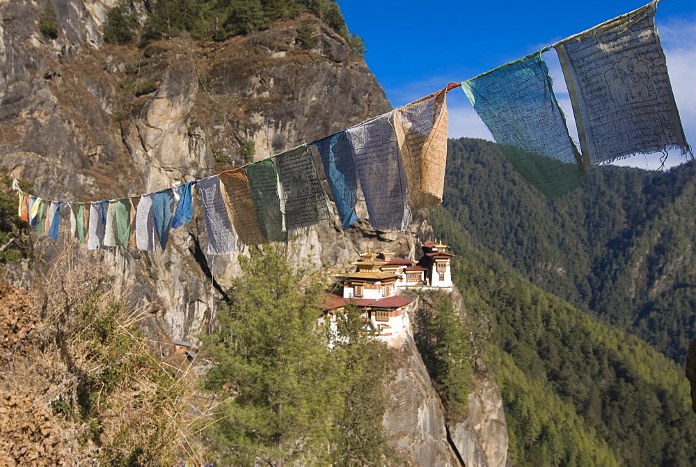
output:
[[232, 303], [220, 310], [219, 331], [209, 339], [216, 361], [209, 383], [233, 394], [209, 436], [227, 448], [223, 463], [317, 461], [342, 404], [338, 362], [316, 329], [319, 288], [301, 292], [302, 271], [272, 247], [252, 248], [240, 266]]

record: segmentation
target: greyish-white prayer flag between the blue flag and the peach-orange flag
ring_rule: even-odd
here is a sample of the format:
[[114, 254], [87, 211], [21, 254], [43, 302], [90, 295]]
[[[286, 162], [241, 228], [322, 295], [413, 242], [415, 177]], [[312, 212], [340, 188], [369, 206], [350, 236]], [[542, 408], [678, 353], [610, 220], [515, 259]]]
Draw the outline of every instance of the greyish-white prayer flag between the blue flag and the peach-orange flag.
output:
[[394, 112], [346, 130], [353, 160], [375, 230], [406, 229], [411, 209], [406, 202], [406, 174], [394, 129]]

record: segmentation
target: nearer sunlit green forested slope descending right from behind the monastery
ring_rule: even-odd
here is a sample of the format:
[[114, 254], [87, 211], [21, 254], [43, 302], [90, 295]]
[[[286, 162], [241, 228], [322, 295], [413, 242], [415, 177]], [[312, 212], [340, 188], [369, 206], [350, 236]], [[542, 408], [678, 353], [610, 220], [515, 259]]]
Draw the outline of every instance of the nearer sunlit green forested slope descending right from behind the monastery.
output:
[[454, 281], [503, 393], [514, 465], [694, 465], [677, 364], [525, 280], [445, 209], [429, 219], [457, 252]]

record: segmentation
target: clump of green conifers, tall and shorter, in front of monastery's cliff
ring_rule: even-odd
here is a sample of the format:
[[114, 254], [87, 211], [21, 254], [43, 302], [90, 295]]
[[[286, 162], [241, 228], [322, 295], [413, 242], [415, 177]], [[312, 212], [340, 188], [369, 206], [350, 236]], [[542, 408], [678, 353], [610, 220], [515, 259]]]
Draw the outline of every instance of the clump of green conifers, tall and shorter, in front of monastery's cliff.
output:
[[328, 330], [317, 329], [319, 283], [303, 280], [305, 271], [272, 247], [250, 253], [239, 258], [244, 275], [233, 280], [232, 303], [207, 345], [216, 362], [209, 387], [230, 395], [208, 433], [221, 464], [378, 460], [386, 350], [361, 338], [351, 311], [340, 324], [349, 342], [330, 350]]

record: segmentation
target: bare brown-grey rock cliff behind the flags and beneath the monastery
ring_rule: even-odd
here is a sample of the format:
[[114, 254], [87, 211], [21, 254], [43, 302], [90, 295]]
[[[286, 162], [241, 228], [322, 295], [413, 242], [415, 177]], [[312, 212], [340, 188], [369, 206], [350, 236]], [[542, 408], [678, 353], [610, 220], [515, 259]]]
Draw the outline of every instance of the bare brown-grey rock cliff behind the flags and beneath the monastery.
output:
[[[262, 159], [390, 110], [365, 63], [315, 17], [214, 45], [182, 35], [139, 49], [103, 44], [106, 12], [116, 3], [54, 2], [55, 40], [38, 31], [42, 4], [17, 0], [0, 6], [0, 165], [31, 180], [39, 196], [88, 201], [164, 189], [244, 164], [241, 148], [249, 141], [254, 158]], [[319, 35], [311, 50], [301, 49], [296, 39], [301, 21], [311, 22]], [[172, 231], [166, 251], [88, 252], [46, 238], [35, 248], [47, 260], [62, 252], [75, 261], [103, 263], [116, 293], [149, 312], [146, 332], [164, 342], [191, 338], [214, 315], [214, 303], [244, 254], [242, 248], [205, 255], [197, 200], [193, 211], [193, 221]], [[367, 218], [364, 203], [358, 215]], [[327, 275], [367, 248], [414, 258], [432, 229], [425, 212], [413, 217], [409, 232], [370, 230], [364, 220], [343, 232], [337, 217], [299, 232], [288, 254], [298, 262], [314, 261]], [[31, 271], [20, 271], [14, 282], [31, 283]], [[441, 406], [412, 340], [404, 342], [402, 355], [404, 366], [390, 383], [396, 406], [385, 425], [398, 435], [400, 452], [411, 464], [455, 465]], [[482, 384], [475, 399], [499, 399], [490, 387]], [[476, 420], [459, 438], [472, 430], [486, 436], [486, 423]], [[476, 449], [488, 452], [487, 441], [479, 440]]]

